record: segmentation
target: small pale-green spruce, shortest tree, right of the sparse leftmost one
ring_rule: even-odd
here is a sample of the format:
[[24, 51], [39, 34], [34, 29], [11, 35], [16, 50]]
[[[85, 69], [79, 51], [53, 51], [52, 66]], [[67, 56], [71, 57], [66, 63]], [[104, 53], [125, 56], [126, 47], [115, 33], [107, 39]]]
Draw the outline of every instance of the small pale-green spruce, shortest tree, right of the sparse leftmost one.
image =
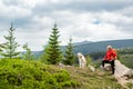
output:
[[28, 47], [28, 43], [23, 44], [22, 48], [25, 50], [25, 53], [23, 53], [22, 59], [33, 60], [33, 55], [31, 52], [31, 49]]

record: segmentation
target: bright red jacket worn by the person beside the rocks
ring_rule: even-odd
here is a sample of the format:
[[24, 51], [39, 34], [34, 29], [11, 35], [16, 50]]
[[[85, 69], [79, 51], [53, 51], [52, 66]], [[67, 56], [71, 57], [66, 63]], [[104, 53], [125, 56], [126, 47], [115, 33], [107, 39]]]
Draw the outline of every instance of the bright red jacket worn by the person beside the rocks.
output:
[[113, 49], [106, 51], [104, 56], [104, 60], [114, 60], [116, 58], [116, 53], [114, 52]]

